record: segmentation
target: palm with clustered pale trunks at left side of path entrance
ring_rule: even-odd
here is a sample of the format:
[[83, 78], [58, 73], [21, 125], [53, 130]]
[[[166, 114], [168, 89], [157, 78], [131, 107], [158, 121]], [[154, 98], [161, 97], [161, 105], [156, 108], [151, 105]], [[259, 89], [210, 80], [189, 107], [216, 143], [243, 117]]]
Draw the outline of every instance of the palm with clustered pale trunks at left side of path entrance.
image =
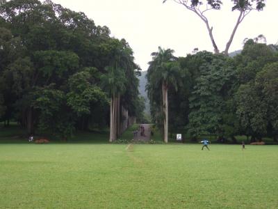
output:
[[[109, 141], [115, 141], [122, 132], [123, 99], [121, 97], [126, 94], [132, 94], [129, 96], [131, 99], [138, 96], [138, 79], [134, 74], [138, 65], [134, 63], [132, 49], [125, 40], [114, 40], [113, 44], [115, 46], [112, 50], [113, 59], [111, 59], [110, 65], [106, 67], [106, 75], [103, 76], [103, 86], [111, 96]], [[126, 103], [131, 103], [131, 100]], [[128, 105], [126, 104], [126, 106]]]

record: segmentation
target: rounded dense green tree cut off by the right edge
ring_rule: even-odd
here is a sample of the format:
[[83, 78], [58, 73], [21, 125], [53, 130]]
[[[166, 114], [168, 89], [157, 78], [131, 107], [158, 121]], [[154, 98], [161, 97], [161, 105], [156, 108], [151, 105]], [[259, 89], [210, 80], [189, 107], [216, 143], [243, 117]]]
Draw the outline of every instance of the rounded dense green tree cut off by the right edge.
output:
[[237, 115], [247, 134], [261, 139], [270, 130], [277, 141], [278, 133], [278, 62], [265, 65], [256, 78], [243, 84], [236, 93]]

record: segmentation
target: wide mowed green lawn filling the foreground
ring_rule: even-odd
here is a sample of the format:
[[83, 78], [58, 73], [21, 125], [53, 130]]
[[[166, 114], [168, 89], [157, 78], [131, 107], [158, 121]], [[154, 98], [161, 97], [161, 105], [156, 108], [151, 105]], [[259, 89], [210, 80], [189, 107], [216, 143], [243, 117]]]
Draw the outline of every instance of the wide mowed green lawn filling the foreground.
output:
[[0, 208], [277, 208], [278, 146], [1, 144]]

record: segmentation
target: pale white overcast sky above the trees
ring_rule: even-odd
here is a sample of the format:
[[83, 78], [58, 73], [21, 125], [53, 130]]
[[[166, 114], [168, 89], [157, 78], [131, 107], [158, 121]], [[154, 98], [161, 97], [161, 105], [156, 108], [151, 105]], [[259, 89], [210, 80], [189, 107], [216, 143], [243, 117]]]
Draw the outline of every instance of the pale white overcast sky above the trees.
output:
[[[158, 46], [174, 49], [175, 56], [186, 56], [194, 48], [213, 52], [206, 26], [195, 13], [168, 0], [53, 0], [65, 8], [83, 12], [95, 24], [108, 26], [111, 36], [125, 38], [133, 49], [136, 63], [147, 70], [150, 54]], [[229, 0], [221, 11], [207, 13], [220, 51], [229, 39], [238, 12], [231, 12]], [[229, 52], [243, 47], [245, 38], [263, 34], [268, 42], [278, 41], [278, 1], [268, 0], [262, 12], [252, 11], [240, 24]]]

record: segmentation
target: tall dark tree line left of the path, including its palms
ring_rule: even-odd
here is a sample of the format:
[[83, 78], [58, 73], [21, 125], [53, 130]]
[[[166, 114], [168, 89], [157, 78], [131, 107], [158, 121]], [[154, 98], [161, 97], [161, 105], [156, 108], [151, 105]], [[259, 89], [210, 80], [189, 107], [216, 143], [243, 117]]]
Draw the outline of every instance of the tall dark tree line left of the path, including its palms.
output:
[[142, 117], [140, 67], [126, 40], [50, 0], [0, 1], [0, 120], [67, 139]]

